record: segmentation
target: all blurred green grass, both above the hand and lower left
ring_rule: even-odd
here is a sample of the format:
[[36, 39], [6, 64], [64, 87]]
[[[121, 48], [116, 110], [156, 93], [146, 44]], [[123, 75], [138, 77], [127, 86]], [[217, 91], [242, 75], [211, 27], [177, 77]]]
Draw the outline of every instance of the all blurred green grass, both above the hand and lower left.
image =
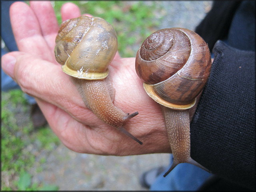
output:
[[[53, 3], [59, 24], [60, 8], [66, 2]], [[159, 25], [154, 20], [155, 2], [71, 2], [79, 6], [82, 14], [89, 13], [112, 24], [122, 57], [135, 57], [139, 46]], [[60, 141], [48, 126], [35, 130], [29, 113], [30, 106], [21, 90], [1, 92], [1, 190], [58, 190], [58, 186], [32, 182], [35, 173], [31, 173], [30, 167], [39, 162], [36, 172], [42, 172], [41, 165], [46, 163], [46, 158], [38, 159], [37, 154], [42, 150], [51, 152]]]

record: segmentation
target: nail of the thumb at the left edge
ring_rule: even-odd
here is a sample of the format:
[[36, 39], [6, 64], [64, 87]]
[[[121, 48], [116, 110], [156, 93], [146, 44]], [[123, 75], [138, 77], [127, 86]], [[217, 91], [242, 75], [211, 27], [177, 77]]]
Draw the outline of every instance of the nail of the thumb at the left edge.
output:
[[2, 56], [2, 69], [10, 77], [14, 78], [14, 66], [16, 63], [16, 58], [10, 54], [5, 54]]

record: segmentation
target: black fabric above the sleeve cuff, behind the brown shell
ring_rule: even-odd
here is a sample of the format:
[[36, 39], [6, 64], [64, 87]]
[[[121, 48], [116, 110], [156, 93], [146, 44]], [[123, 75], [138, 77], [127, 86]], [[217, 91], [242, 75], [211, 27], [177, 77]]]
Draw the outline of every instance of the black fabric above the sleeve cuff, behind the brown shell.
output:
[[195, 32], [208, 43], [210, 52], [217, 40], [227, 37], [232, 18], [240, 3], [241, 1], [215, 0], [212, 9], [196, 27]]

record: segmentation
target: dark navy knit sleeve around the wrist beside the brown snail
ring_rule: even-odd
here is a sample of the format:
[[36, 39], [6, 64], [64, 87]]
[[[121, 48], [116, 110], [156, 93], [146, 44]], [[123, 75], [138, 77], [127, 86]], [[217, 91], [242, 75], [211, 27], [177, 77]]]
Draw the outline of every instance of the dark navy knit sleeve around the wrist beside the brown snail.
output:
[[255, 190], [255, 52], [216, 42], [214, 62], [190, 124], [191, 157]]

